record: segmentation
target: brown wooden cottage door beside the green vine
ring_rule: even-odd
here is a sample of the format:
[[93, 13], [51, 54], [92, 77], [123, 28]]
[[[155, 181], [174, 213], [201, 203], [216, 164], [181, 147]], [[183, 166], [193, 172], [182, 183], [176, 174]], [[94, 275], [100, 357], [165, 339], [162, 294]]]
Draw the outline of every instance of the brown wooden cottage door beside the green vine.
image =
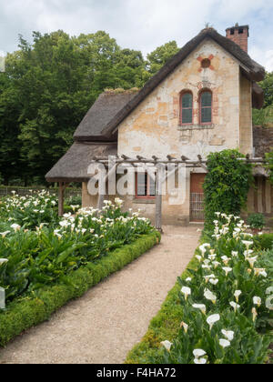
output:
[[190, 176], [190, 221], [204, 222], [204, 190], [203, 183], [206, 174], [191, 174]]

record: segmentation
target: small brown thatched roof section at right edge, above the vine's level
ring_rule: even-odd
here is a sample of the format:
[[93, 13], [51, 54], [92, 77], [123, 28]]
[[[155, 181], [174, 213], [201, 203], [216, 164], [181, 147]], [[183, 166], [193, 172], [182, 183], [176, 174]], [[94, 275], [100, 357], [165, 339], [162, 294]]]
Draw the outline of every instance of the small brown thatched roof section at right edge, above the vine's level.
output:
[[253, 146], [255, 156], [265, 156], [273, 150], [273, 128], [263, 126], [253, 126]]

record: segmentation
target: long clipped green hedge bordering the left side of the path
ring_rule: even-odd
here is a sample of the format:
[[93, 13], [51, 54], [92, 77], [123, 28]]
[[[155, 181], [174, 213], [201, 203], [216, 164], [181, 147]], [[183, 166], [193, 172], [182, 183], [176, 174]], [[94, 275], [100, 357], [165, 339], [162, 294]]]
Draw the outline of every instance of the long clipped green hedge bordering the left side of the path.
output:
[[83, 296], [106, 276], [122, 269], [148, 249], [160, 242], [160, 234], [153, 232], [138, 238], [134, 243], [118, 248], [96, 263], [88, 263], [66, 276], [61, 283], [35, 291], [34, 297], [14, 301], [0, 312], [0, 347], [24, 330], [47, 320], [69, 300]]

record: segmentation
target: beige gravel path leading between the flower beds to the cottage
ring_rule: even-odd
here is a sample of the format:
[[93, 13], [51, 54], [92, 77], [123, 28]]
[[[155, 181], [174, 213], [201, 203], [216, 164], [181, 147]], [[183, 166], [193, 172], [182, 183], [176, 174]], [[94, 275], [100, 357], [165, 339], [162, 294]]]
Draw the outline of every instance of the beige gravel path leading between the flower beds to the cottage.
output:
[[0, 364], [121, 364], [147, 332], [197, 247], [197, 226], [162, 243], [0, 349]]

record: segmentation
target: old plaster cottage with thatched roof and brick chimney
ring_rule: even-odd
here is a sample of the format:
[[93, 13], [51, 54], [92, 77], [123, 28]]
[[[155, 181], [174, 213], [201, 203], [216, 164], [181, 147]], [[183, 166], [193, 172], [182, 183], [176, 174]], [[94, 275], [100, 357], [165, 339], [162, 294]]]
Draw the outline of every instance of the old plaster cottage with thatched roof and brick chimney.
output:
[[[252, 126], [252, 107], [263, 106], [257, 82], [265, 70], [248, 55], [248, 35], [248, 25], [227, 28], [226, 36], [208, 27], [140, 91], [100, 95], [77, 127], [74, 145], [45, 176], [59, 183], [60, 200], [67, 184], [81, 182], [83, 206], [97, 206], [99, 196], [90, 195], [87, 187], [88, 166], [95, 158], [182, 158], [185, 197], [176, 204], [170, 203], [172, 193], [162, 196], [163, 223], [202, 221], [202, 158], [226, 148], [263, 156], [263, 147], [268, 149], [269, 142], [273, 146], [272, 134], [268, 140], [268, 131]], [[264, 141], [267, 145], [261, 145]], [[248, 211], [271, 214], [273, 193], [267, 175], [261, 170], [256, 175], [258, 188], [249, 194]], [[157, 180], [146, 170], [138, 171], [135, 180], [136, 187], [123, 196], [125, 206], [153, 218]]]

